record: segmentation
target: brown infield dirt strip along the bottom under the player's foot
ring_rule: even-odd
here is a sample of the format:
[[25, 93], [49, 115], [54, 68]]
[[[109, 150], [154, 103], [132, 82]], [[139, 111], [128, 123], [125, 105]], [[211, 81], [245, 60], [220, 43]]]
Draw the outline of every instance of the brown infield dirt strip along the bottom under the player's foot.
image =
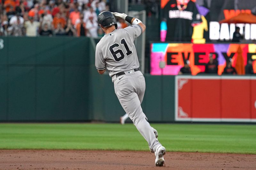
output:
[[166, 152], [165, 166], [155, 155], [135, 151], [0, 150], [0, 169], [256, 169], [256, 155]]

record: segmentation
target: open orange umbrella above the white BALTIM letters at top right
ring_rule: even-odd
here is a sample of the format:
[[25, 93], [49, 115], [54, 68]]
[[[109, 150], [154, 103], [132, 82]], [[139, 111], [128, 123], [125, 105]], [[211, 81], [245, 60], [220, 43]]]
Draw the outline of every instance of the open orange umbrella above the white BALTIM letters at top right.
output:
[[240, 13], [236, 15], [235, 17], [229, 18], [229, 19], [223, 19], [220, 21], [220, 23], [248, 23], [248, 24], [256, 24], [256, 16], [249, 13]]

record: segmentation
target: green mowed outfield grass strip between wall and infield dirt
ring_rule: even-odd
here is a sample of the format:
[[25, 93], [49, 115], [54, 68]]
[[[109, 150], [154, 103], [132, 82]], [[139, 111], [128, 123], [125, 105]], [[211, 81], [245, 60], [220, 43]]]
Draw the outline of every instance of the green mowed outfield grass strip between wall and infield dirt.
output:
[[[167, 151], [256, 154], [255, 125], [151, 124]], [[133, 124], [1, 123], [0, 149], [149, 151]]]

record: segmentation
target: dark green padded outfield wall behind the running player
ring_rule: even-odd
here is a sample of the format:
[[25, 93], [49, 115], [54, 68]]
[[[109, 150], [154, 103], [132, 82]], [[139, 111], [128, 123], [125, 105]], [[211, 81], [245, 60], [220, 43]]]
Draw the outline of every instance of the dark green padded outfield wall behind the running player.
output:
[[[90, 38], [0, 37], [0, 121], [118, 122], [124, 110], [94, 54]], [[174, 76], [145, 79], [148, 120], [174, 121]]]

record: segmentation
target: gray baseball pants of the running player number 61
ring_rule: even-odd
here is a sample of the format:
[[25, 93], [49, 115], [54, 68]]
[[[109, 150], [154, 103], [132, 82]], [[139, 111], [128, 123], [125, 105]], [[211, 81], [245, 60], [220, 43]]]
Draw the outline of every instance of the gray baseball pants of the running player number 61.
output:
[[[146, 115], [140, 106], [145, 93], [145, 79], [140, 71], [125, 71], [125, 75], [116, 78], [112, 77], [116, 96], [121, 103], [124, 111], [128, 114], [140, 134], [146, 139], [150, 149], [156, 151], [157, 146], [161, 145], [148, 123]], [[162, 145], [161, 145], [162, 146]]]

